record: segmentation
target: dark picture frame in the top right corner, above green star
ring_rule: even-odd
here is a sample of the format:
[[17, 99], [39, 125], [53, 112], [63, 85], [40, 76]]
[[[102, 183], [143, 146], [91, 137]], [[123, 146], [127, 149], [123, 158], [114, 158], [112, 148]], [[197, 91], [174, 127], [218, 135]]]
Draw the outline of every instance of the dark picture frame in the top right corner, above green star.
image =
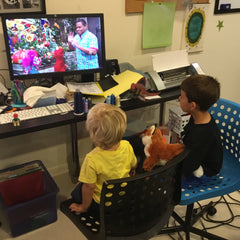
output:
[[239, 0], [216, 0], [214, 14], [240, 12]]

